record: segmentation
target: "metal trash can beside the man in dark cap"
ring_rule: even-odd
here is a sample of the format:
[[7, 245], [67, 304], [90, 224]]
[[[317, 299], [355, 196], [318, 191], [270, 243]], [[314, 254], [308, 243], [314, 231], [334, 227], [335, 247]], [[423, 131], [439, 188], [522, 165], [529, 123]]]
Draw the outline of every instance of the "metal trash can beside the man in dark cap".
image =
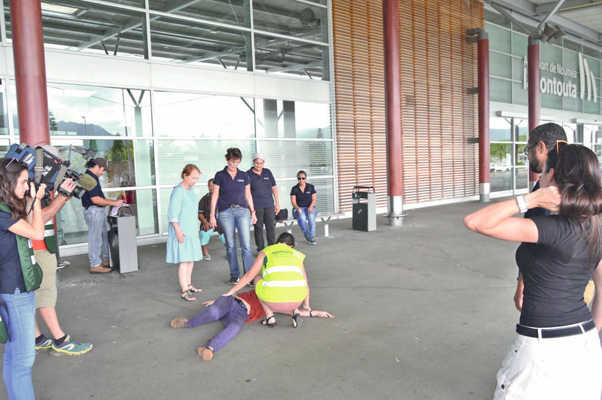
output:
[[111, 207], [107, 217], [111, 268], [122, 274], [138, 271], [136, 217], [129, 205]]

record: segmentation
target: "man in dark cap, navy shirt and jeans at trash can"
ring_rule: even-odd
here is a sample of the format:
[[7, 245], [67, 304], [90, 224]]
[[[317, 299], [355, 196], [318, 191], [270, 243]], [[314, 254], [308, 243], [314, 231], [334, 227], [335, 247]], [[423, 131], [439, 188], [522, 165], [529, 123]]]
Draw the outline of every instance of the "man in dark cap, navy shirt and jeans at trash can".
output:
[[[92, 176], [97, 185], [84, 193], [81, 205], [84, 206], [84, 220], [88, 226], [88, 259], [90, 274], [107, 274], [113, 271], [109, 266], [109, 243], [107, 235], [107, 214], [105, 206], [120, 206], [123, 200], [108, 200], [102, 192], [98, 177], [109, 171], [107, 160], [97, 157], [87, 162], [85, 173]], [[102, 262], [101, 262], [102, 256]]]

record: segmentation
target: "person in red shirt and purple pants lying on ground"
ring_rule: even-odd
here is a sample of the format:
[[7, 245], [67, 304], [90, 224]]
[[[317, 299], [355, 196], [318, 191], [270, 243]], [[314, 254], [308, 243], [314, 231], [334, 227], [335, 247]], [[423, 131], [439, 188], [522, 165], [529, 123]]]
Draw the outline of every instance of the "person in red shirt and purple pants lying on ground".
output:
[[[220, 319], [224, 325], [221, 331], [209, 341], [208, 345], [197, 348], [197, 354], [205, 361], [211, 360], [213, 354], [219, 351], [241, 331], [246, 322], [257, 321], [265, 315], [255, 291], [248, 291], [237, 296], [220, 296], [213, 301], [205, 301], [207, 307], [193, 318], [176, 318], [171, 322], [172, 328], [194, 328], [207, 322]], [[291, 315], [291, 313], [289, 313]], [[320, 316], [334, 318], [326, 311], [303, 310], [302, 316]]]

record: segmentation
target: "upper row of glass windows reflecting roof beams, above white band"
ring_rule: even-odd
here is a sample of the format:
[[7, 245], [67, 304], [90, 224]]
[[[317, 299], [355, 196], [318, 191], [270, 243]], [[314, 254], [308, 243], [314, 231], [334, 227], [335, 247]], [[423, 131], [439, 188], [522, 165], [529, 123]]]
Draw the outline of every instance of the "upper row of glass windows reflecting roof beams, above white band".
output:
[[[10, 42], [10, 0], [3, 1]], [[330, 75], [325, 0], [42, 1], [42, 25], [52, 49], [306, 79]]]

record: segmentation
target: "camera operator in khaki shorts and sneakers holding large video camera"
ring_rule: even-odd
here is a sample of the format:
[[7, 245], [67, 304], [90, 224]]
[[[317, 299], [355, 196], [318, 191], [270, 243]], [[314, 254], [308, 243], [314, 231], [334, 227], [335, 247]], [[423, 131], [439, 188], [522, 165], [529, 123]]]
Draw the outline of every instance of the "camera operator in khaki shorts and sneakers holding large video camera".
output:
[[[75, 189], [75, 183], [71, 178], [65, 179], [61, 183], [61, 188], [70, 193]], [[36, 309], [39, 310], [40, 316], [42, 316], [52, 335], [52, 337], [46, 337], [40, 331], [36, 313], [36, 351], [52, 349], [52, 355], [84, 354], [92, 349], [92, 343], [76, 342], [75, 339], [64, 333], [61, 325], [58, 324], [55, 308], [57, 306], [57, 256], [55, 256], [57, 244], [52, 218], [63, 208], [69, 198], [58, 194], [51, 203], [48, 204], [46, 200], [46, 205], [43, 204], [44, 207], [42, 208], [42, 217], [46, 224], [44, 240], [32, 241], [37, 263], [43, 271], [42, 284], [34, 292], [36, 295]]]

